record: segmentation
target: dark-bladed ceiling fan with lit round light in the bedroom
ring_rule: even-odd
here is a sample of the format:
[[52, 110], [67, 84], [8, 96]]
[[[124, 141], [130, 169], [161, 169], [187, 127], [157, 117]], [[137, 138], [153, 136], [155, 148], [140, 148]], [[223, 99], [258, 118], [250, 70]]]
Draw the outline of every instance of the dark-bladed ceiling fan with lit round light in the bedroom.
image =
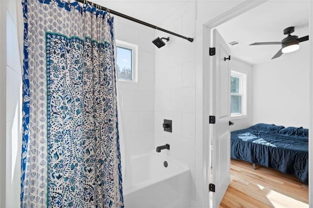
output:
[[309, 40], [309, 36], [303, 36], [298, 38], [298, 36], [291, 35], [294, 32], [294, 27], [287, 27], [284, 29], [284, 35], [288, 35], [281, 42], [254, 42], [250, 45], [282, 45], [282, 48], [273, 56], [272, 59], [276, 59], [283, 55], [283, 53], [290, 53], [296, 51], [300, 48], [299, 42], [304, 42]]

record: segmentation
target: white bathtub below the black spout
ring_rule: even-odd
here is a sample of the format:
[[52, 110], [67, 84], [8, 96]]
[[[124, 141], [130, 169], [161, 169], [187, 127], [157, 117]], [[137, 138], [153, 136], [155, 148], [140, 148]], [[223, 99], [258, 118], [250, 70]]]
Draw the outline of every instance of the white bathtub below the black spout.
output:
[[189, 207], [188, 166], [164, 153], [150, 152], [132, 157], [129, 167], [123, 187], [125, 208]]

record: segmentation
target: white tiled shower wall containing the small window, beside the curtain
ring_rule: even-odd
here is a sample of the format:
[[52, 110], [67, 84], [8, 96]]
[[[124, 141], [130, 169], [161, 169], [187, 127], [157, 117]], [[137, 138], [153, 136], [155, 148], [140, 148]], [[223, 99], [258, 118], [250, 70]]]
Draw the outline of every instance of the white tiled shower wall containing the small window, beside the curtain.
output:
[[119, 81], [126, 157], [154, 148], [154, 30], [114, 17], [115, 39], [138, 45], [138, 82]]

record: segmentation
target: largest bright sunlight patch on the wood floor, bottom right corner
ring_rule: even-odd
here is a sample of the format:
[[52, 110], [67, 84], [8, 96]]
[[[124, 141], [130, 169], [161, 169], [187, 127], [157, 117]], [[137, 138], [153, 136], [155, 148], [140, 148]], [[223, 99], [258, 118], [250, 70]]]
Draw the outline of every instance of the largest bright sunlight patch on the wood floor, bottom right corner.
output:
[[301, 201], [292, 199], [289, 196], [283, 195], [276, 191], [270, 190], [267, 194], [268, 200], [272, 203], [275, 208], [308, 208], [309, 205]]

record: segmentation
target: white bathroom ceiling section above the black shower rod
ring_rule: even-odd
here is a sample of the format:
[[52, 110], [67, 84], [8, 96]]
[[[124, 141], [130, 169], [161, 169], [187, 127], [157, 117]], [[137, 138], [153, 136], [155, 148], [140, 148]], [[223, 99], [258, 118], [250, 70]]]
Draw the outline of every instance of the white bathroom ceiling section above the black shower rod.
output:
[[154, 25], [166, 20], [188, 1], [190, 0], [93, 0], [94, 3]]

